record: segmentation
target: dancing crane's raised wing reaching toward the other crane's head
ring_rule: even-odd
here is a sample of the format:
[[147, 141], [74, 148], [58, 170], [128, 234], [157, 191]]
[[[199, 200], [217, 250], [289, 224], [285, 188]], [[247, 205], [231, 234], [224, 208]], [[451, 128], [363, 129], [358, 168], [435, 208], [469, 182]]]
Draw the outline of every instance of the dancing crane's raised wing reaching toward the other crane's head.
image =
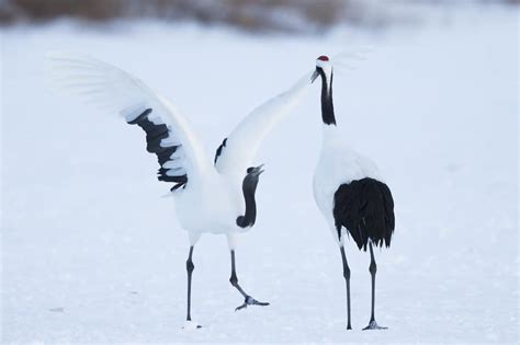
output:
[[291, 89], [248, 114], [216, 150], [216, 170], [233, 174], [244, 173], [251, 166], [262, 140], [298, 104], [314, 81], [313, 77], [314, 72], [305, 74]]

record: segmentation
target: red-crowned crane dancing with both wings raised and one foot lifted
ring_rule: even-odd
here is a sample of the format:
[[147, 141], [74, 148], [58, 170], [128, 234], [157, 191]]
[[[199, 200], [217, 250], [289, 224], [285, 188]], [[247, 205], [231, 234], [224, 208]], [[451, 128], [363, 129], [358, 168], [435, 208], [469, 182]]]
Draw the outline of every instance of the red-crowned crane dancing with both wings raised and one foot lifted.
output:
[[251, 165], [264, 137], [298, 103], [316, 72], [255, 108], [224, 139], [212, 161], [188, 119], [137, 78], [84, 56], [50, 54], [49, 62], [54, 78], [65, 81], [64, 87], [90, 96], [94, 103], [109, 105], [128, 124], [143, 128], [147, 150], [157, 154], [160, 164], [158, 179], [174, 183], [171, 193], [178, 219], [190, 240], [184, 327], [200, 327], [191, 318], [191, 281], [193, 249], [203, 233], [227, 237], [231, 258], [229, 281], [245, 299], [236, 310], [268, 306], [240, 287], [235, 266], [237, 239], [255, 225], [257, 217], [255, 193], [263, 170], [262, 165]]

